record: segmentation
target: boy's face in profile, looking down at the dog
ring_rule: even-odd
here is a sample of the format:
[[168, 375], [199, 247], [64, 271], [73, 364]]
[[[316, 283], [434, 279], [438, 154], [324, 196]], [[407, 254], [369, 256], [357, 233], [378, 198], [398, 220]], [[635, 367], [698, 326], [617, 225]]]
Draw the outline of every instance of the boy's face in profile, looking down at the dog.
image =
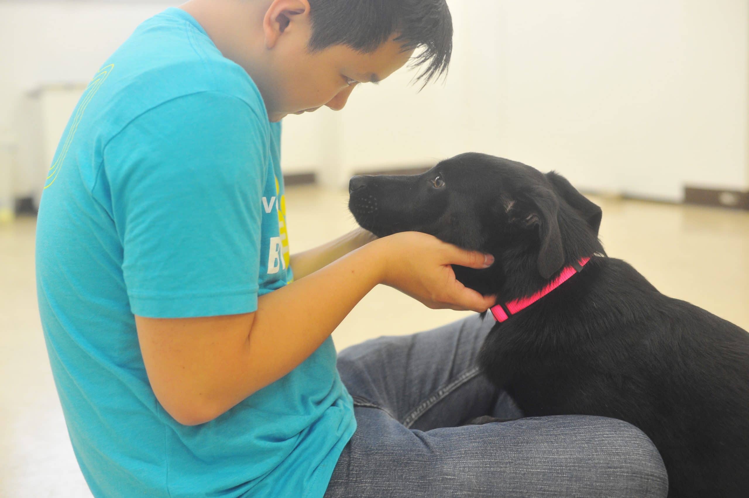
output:
[[413, 49], [403, 52], [392, 38], [375, 52], [363, 54], [345, 45], [309, 52], [309, 37], [281, 37], [275, 47], [276, 70], [266, 88], [270, 121], [288, 114], [313, 112], [322, 106], [343, 109], [359, 83], [377, 82], [406, 64]]

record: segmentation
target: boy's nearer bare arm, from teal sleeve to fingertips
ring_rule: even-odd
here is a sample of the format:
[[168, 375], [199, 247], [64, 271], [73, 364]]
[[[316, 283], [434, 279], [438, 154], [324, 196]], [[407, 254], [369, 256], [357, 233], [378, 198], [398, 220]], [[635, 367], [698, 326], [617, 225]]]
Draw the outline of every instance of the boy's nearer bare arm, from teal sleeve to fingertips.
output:
[[464, 288], [450, 264], [482, 268], [485, 257], [416, 232], [375, 240], [277, 291], [243, 315], [136, 316], [148, 380], [178, 422], [225, 413], [307, 359], [378, 283], [431, 308], [483, 312], [494, 299]]

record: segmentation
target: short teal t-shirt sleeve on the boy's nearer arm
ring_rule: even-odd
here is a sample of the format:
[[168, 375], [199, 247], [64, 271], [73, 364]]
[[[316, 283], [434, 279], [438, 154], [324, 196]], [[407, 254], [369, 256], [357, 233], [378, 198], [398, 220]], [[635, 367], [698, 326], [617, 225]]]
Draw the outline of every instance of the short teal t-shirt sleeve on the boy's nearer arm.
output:
[[269, 133], [243, 100], [201, 92], [145, 112], [106, 145], [134, 315], [257, 309]]

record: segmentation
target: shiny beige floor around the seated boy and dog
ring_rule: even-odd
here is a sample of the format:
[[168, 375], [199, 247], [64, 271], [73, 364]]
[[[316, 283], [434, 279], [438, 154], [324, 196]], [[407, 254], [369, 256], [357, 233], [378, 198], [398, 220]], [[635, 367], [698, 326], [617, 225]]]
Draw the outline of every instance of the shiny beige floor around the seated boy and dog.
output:
[[[292, 249], [354, 227], [345, 192], [288, 189]], [[749, 329], [749, 213], [595, 198], [601, 240], [661, 292]], [[407, 334], [468, 313], [432, 311], [378, 287], [333, 333], [341, 349], [366, 338]], [[34, 219], [0, 226], [0, 497], [90, 497], [79, 473], [49, 364], [34, 287]]]

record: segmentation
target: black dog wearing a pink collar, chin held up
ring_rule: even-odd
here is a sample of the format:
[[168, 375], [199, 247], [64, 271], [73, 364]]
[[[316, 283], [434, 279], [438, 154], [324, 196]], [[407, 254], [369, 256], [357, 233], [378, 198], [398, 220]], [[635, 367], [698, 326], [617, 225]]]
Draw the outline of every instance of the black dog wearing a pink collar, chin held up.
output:
[[455, 275], [497, 303], [536, 294], [590, 258], [497, 322], [479, 356], [484, 373], [526, 416], [640, 428], [661, 452], [671, 498], [749, 497], [749, 334], [607, 258], [601, 209], [567, 180], [461, 154], [424, 174], [357, 176], [349, 189], [351, 213], [377, 236], [422, 231], [494, 255], [487, 270], [456, 266]]

